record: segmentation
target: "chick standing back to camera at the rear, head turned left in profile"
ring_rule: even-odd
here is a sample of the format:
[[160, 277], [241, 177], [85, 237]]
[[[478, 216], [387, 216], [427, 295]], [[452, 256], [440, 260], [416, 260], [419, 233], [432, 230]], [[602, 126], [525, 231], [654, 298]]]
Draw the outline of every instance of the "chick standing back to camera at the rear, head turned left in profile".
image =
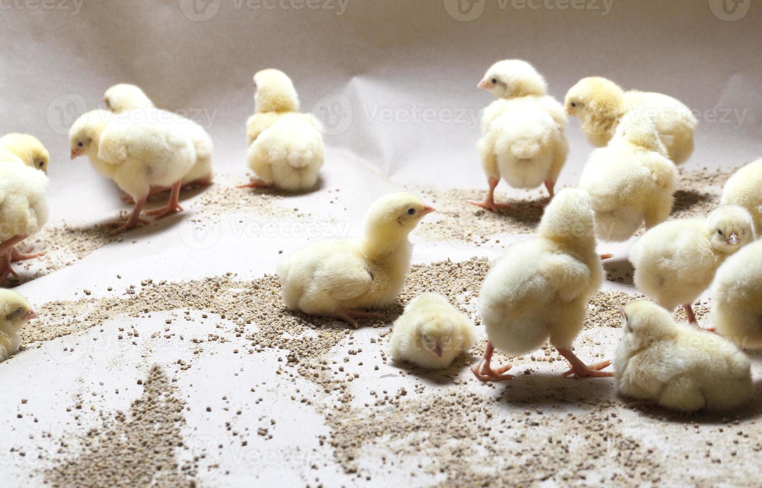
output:
[[487, 174], [484, 202], [469, 201], [491, 212], [495, 187], [503, 177], [511, 187], [535, 188], [545, 183], [550, 197], [568, 155], [563, 107], [547, 94], [545, 79], [526, 61], [507, 59], [488, 69], [479, 88], [498, 97], [482, 114], [482, 139], [477, 149]]

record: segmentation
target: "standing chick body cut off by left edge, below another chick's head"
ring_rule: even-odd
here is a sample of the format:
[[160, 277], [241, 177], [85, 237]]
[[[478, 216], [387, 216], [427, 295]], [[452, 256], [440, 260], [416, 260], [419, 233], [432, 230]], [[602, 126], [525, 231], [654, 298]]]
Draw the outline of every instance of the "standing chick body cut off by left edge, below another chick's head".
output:
[[17, 276], [11, 261], [42, 254], [21, 254], [14, 246], [47, 222], [47, 184], [46, 175], [34, 167], [0, 164], [0, 282]]

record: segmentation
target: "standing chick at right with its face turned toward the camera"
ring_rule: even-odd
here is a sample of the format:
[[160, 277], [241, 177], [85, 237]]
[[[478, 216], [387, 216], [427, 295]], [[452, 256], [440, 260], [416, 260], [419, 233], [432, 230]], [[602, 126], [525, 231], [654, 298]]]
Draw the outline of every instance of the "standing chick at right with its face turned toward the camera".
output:
[[735, 205], [721, 206], [708, 218], [664, 222], [632, 246], [635, 284], [668, 311], [683, 305], [696, 324], [690, 304], [709, 288], [725, 258], [753, 240], [751, 215]]

